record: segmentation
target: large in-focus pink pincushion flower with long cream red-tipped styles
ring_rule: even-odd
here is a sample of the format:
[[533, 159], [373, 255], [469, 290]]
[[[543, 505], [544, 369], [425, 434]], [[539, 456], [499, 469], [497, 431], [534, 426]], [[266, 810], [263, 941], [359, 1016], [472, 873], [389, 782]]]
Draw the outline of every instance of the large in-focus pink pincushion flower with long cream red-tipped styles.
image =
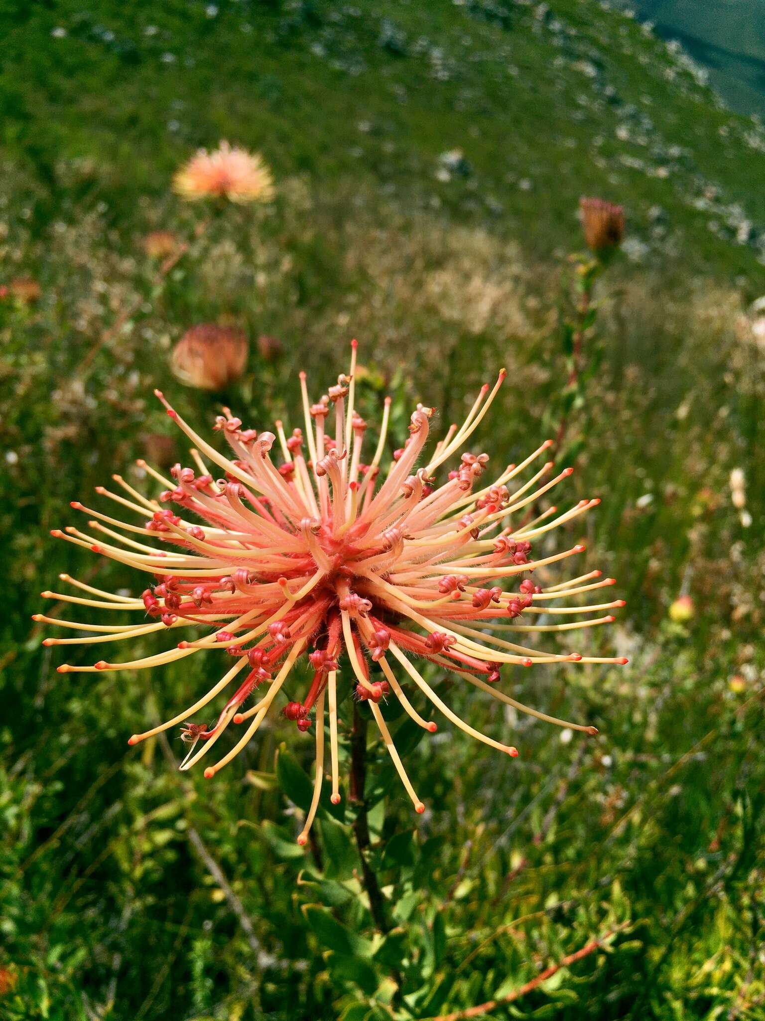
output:
[[[149, 621], [102, 626], [36, 617], [93, 632], [85, 638], [48, 638], [47, 644], [122, 641], [154, 631], [201, 627], [206, 633], [184, 638], [159, 654], [122, 663], [99, 660], [92, 667], [64, 664], [58, 670], [152, 669], [203, 650], [220, 654], [227, 669], [206, 694], [172, 719], [130, 739], [136, 744], [184, 724], [183, 736], [191, 745], [181, 764], [186, 770], [210, 753], [230, 724], [247, 723], [235, 745], [205, 770], [206, 777], [212, 777], [247, 745], [286, 687], [298, 659], [307, 658], [312, 680], [307, 690], [293, 692], [282, 710], [298, 730], [315, 728], [313, 800], [300, 843], [306, 842], [319, 800], [325, 710], [332, 800], [340, 800], [341, 683], [353, 685], [356, 697], [368, 704], [416, 811], [422, 812], [379, 707], [389, 695], [396, 697], [415, 723], [435, 731], [436, 723], [420, 716], [404, 683], [479, 741], [511, 756], [517, 751], [461, 720], [428, 684], [416, 661], [427, 660], [523, 713], [590, 734], [597, 733], [594, 727], [550, 717], [507, 694], [500, 683], [502, 669], [626, 662], [578, 652], [540, 652], [518, 643], [526, 633], [567, 633], [611, 622], [610, 611], [623, 605], [622, 600], [559, 604], [569, 596], [613, 584], [612, 578], [601, 579], [600, 571], [544, 587], [537, 584], [550, 565], [584, 547], [574, 545], [532, 560], [532, 543], [599, 502], [580, 500], [561, 514], [549, 507], [533, 520], [511, 524], [571, 474], [571, 469], [565, 469], [543, 481], [553, 463], [530, 468], [551, 441], [521, 464], [506, 468], [488, 485], [482, 481], [488, 456], [482, 453], [462, 453], [447, 478], [440, 484], [436, 481], [437, 471], [453, 460], [480, 425], [504, 371], [491, 392], [488, 385], [481, 388], [462, 426], [451, 426], [425, 457], [434, 409], [418, 405], [411, 417], [409, 438], [394, 454], [390, 469], [380, 473], [391, 400], [385, 402], [372, 458], [362, 464], [367, 426], [354, 408], [355, 341], [352, 349], [350, 374], [341, 376], [337, 386], [315, 404], [308, 398], [301, 374], [305, 435], [295, 429], [288, 437], [280, 422], [276, 435], [258, 434], [244, 429], [227, 410], [219, 417], [215, 428], [228, 442], [231, 457], [198, 436], [157, 391], [167, 414], [195, 444], [195, 468], [176, 465], [170, 480], [139, 461], [165, 487], [158, 499], [144, 496], [120, 476], [113, 478], [126, 496], [98, 489], [135, 515], [135, 524], [75, 502], [72, 506], [91, 516], [91, 528], [100, 534], [75, 528], [52, 533], [143, 571], [154, 579], [153, 586], [140, 598], [131, 598], [62, 576], [84, 594], [43, 593], [118, 615], [137, 612], [148, 615]], [[282, 452], [280, 465], [271, 456], [274, 444]], [[213, 479], [203, 457], [222, 471], [221, 478]], [[420, 460], [425, 464], [417, 468]], [[516, 482], [529, 474], [526, 470], [530, 477]], [[584, 619], [533, 623], [540, 616], [554, 621], [560, 615], [584, 615]], [[230, 687], [236, 690], [214, 724], [187, 722]], [[255, 703], [245, 708], [253, 696]]]

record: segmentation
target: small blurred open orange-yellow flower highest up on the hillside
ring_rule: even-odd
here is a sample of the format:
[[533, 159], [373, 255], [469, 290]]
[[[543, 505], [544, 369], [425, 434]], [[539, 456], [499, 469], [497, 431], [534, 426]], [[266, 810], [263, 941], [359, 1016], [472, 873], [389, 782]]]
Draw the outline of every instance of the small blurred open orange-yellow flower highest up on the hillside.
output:
[[273, 198], [273, 177], [262, 156], [227, 142], [211, 152], [199, 149], [177, 172], [172, 186], [189, 201], [222, 198], [246, 203]]

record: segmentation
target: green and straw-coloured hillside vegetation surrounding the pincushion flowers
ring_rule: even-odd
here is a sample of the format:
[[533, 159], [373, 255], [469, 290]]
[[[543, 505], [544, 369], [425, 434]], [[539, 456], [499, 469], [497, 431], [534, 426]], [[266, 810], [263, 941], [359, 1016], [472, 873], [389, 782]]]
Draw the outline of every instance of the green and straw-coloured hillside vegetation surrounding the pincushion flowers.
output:
[[[0, 1017], [428, 1018], [608, 932], [482, 1016], [763, 1017], [763, 350], [745, 315], [763, 279], [761, 128], [590, 0], [6, 2], [0, 35], [0, 283], [42, 287], [0, 302]], [[264, 154], [277, 200], [218, 217], [154, 288], [142, 238], [192, 235], [202, 213], [169, 177], [221, 137]], [[455, 171], [442, 154], [458, 148]], [[274, 722], [215, 782], [182, 777], [161, 742], [126, 737], [188, 704], [209, 664], [55, 672], [30, 620], [40, 591], [63, 571], [135, 579], [48, 532], [169, 435], [154, 386], [211, 421], [220, 398], [166, 358], [221, 317], [283, 343], [275, 360], [253, 345], [225, 395], [248, 424], [296, 425], [297, 371], [318, 392], [357, 336], [364, 409], [391, 387], [398, 437], [417, 400], [446, 425], [507, 366], [476, 441], [517, 459], [565, 378], [582, 193], [624, 202], [628, 241], [599, 285], [568, 492], [603, 498], [586, 563], [627, 606], [599, 640], [630, 666], [509, 678], [600, 728], [568, 743], [455, 686], [455, 708], [522, 756], [446, 725], [409, 742], [421, 819], [370, 749], [372, 865], [397, 925], [381, 939], [347, 829], [322, 810], [319, 854], [294, 843], [310, 735]], [[667, 617], [681, 591], [685, 625]]]

